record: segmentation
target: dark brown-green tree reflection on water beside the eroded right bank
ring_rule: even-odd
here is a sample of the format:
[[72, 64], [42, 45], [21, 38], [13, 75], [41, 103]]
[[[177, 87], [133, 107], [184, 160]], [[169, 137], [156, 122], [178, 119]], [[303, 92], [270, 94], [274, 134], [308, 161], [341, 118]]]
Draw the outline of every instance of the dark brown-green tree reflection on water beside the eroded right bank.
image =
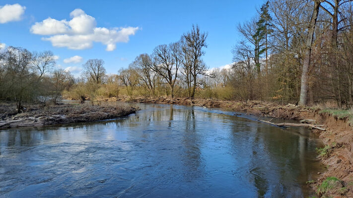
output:
[[[251, 163], [255, 167], [254, 183], [259, 197], [269, 193], [302, 196], [303, 192], [293, 182], [307, 181], [306, 154], [313, 149], [306, 137], [281, 128], [259, 124], [254, 141], [251, 141], [253, 155]], [[295, 128], [303, 133], [304, 128]], [[311, 146], [309, 146], [311, 145]], [[309, 146], [309, 147], [308, 147]], [[315, 146], [314, 146], [315, 147]], [[314, 157], [314, 156], [312, 156]], [[266, 163], [264, 163], [266, 161]]]

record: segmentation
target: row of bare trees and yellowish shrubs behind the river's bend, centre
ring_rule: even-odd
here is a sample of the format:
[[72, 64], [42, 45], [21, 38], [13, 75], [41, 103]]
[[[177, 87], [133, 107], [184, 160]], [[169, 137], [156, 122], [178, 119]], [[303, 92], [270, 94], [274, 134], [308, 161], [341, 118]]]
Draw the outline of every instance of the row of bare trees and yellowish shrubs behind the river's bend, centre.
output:
[[[83, 65], [83, 80], [72, 89], [71, 97], [112, 97], [119, 95], [123, 87], [130, 97], [194, 98], [203, 76], [208, 76], [208, 68], [202, 58], [207, 47], [207, 36], [198, 25], [193, 25], [191, 31], [184, 33], [179, 41], [159, 45], [152, 54], [138, 55], [128, 68], [120, 69], [118, 74], [106, 75], [103, 60], [88, 60]], [[111, 88], [108, 92], [115, 90], [114, 94], [104, 94], [107, 86]], [[84, 90], [90, 92], [84, 93]]]

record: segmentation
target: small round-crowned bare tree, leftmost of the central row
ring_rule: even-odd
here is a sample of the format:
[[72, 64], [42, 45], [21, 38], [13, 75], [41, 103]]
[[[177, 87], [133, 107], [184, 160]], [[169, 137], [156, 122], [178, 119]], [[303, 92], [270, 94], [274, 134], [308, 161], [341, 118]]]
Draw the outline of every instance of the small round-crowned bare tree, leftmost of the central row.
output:
[[103, 67], [104, 61], [102, 59], [89, 59], [83, 64], [84, 75], [89, 82], [95, 84], [104, 83], [105, 68]]

